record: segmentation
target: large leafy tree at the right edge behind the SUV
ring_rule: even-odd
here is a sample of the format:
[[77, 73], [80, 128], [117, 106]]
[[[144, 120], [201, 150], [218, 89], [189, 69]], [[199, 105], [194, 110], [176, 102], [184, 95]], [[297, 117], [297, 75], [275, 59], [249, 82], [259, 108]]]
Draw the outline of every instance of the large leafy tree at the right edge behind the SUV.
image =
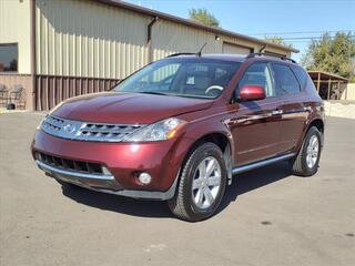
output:
[[328, 33], [313, 40], [301, 63], [307, 70], [336, 73], [355, 81], [355, 38], [352, 32]]

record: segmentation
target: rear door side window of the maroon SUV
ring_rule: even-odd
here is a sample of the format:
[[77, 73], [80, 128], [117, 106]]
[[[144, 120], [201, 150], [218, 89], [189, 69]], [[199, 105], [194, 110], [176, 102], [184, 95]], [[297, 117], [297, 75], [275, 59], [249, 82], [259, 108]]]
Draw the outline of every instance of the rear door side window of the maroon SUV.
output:
[[273, 63], [272, 65], [277, 95], [293, 94], [301, 91], [296, 76], [287, 65], [276, 63]]

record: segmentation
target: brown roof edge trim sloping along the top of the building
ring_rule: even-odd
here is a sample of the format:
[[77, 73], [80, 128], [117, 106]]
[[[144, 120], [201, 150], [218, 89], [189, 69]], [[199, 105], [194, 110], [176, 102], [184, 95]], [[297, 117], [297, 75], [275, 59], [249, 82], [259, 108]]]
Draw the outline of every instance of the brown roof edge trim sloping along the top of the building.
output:
[[233, 32], [233, 31], [224, 30], [224, 29], [217, 28], [217, 27], [204, 25], [204, 24], [199, 23], [199, 22], [193, 21], [193, 20], [183, 19], [183, 18], [175, 17], [175, 16], [172, 16], [172, 14], [169, 14], [169, 13], [163, 13], [163, 12], [160, 12], [160, 11], [156, 11], [156, 10], [143, 8], [143, 7], [140, 7], [140, 6], [132, 4], [132, 3], [128, 3], [128, 2], [124, 2], [124, 1], [121, 1], [121, 0], [97, 0], [97, 1], [105, 3], [105, 4], [110, 4], [110, 6], [113, 6], [113, 7], [128, 9], [128, 10], [131, 10], [133, 12], [143, 13], [143, 14], [151, 16], [151, 17], [154, 17], [154, 18], [158, 17], [158, 18], [161, 18], [161, 19], [164, 19], [164, 20], [168, 20], [168, 21], [173, 21], [173, 22], [185, 24], [185, 25], [193, 27], [193, 28], [196, 28], [196, 29], [214, 32], [216, 34], [225, 34], [225, 35], [234, 37], [234, 38], [240, 38], [240, 39], [243, 39], [243, 40], [246, 40], [246, 41], [251, 41], [251, 42], [255, 42], [255, 43], [258, 43], [258, 44], [262, 44], [262, 45], [278, 48], [278, 49], [283, 49], [283, 50], [295, 52], [295, 53], [300, 52], [297, 49], [294, 49], [294, 48], [290, 48], [290, 47], [281, 45], [281, 44], [275, 44], [275, 43], [267, 42], [267, 41], [264, 41], [264, 40], [261, 40], [261, 39], [257, 39], [257, 38], [253, 38], [253, 37], [240, 34], [240, 33], [236, 33], [236, 32]]

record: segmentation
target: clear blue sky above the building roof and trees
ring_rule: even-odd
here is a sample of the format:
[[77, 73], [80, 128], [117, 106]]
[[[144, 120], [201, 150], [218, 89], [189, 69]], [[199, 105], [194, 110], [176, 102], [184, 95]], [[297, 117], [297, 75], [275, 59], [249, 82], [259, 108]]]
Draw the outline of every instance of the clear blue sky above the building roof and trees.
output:
[[[189, 9], [206, 8], [222, 28], [264, 38], [258, 33], [306, 32], [280, 34], [284, 38], [320, 37], [324, 31], [353, 30], [355, 0], [126, 0], [145, 8], [187, 18]], [[255, 35], [254, 35], [255, 34]], [[288, 40], [301, 53], [310, 40]]]

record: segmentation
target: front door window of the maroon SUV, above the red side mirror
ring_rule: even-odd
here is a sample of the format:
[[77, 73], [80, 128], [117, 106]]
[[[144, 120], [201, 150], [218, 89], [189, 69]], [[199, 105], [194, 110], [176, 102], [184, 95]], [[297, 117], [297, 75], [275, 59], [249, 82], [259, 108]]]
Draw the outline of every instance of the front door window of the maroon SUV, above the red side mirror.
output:
[[239, 83], [237, 90], [244, 85], [260, 85], [265, 89], [266, 98], [275, 96], [275, 89], [273, 86], [272, 75], [267, 63], [252, 64]]

